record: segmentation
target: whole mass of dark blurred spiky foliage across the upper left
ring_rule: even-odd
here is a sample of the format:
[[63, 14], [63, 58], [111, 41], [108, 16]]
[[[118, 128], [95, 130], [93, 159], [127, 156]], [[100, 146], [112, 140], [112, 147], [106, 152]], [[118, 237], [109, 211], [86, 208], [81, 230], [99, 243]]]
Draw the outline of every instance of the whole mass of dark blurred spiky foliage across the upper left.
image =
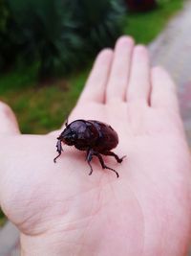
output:
[[76, 70], [122, 31], [119, 0], [0, 1], [1, 66], [37, 61], [41, 78]]

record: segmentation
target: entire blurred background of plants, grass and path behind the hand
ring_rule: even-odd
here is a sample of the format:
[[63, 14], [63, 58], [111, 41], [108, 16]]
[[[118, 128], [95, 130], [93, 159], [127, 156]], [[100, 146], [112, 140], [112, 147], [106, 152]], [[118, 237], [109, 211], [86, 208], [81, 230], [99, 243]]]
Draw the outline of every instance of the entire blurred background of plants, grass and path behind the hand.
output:
[[[185, 0], [0, 0], [0, 100], [11, 105], [24, 133], [59, 128], [97, 53], [119, 35], [132, 35], [179, 83], [191, 145], [191, 65], [184, 48], [191, 50], [184, 31], [190, 13]], [[0, 211], [0, 227], [5, 221]]]

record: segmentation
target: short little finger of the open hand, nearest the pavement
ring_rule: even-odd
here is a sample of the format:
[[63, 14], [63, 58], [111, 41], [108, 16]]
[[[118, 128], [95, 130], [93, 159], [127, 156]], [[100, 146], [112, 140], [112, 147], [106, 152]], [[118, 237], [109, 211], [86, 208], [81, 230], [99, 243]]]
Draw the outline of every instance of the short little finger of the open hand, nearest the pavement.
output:
[[152, 69], [151, 106], [179, 109], [176, 86], [168, 73], [161, 67]]

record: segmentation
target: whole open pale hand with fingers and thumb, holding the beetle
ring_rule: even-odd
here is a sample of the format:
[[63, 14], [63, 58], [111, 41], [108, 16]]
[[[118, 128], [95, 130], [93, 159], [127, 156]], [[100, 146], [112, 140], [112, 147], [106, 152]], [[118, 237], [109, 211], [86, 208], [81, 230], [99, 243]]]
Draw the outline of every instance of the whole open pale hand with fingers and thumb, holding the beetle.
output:
[[85, 152], [73, 147], [63, 146], [54, 164], [62, 129], [20, 135], [3, 107], [0, 203], [21, 231], [23, 255], [186, 255], [190, 155], [174, 84], [148, 62], [144, 47], [119, 38], [114, 53], [105, 50], [96, 59], [69, 118], [117, 130], [114, 151], [127, 157], [121, 164], [104, 159], [119, 178], [96, 159], [88, 175]]

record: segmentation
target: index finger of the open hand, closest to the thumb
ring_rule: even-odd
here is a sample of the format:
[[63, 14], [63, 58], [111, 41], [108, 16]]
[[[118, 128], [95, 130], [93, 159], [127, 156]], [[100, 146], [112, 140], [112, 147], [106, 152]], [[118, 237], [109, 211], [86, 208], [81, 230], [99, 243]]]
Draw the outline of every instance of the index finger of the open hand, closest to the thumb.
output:
[[99, 53], [78, 103], [87, 101], [104, 102], [105, 85], [108, 80], [112, 58], [113, 51], [110, 49], [104, 49]]

